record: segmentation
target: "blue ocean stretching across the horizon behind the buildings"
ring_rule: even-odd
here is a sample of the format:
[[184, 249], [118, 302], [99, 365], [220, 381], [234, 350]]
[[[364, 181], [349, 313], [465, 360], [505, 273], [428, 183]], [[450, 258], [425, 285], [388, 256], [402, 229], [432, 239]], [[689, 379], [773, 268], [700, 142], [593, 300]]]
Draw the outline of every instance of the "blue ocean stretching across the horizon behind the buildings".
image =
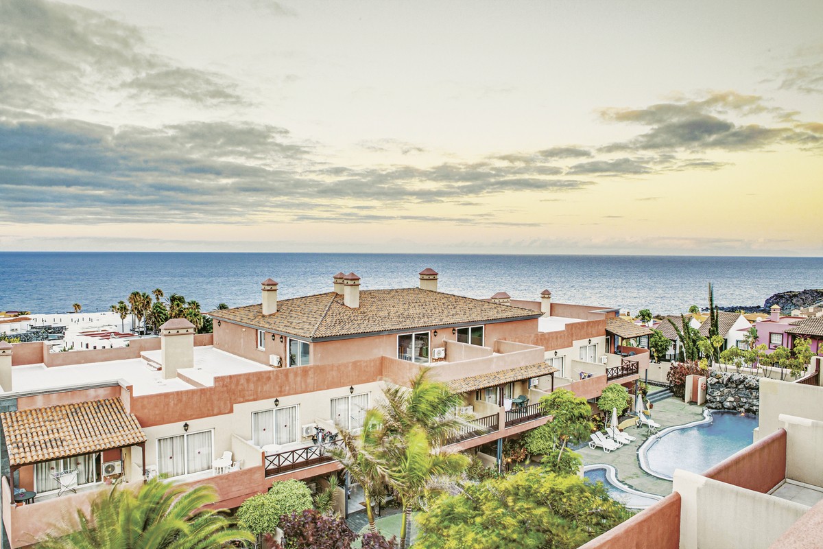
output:
[[356, 272], [362, 289], [411, 287], [424, 268], [439, 290], [487, 298], [506, 291], [560, 303], [676, 314], [708, 303], [762, 305], [779, 291], [821, 288], [823, 258], [720, 258], [608, 255], [208, 254], [0, 252], [0, 310], [62, 313], [80, 303], [108, 310], [132, 291], [162, 289], [202, 310], [260, 302], [260, 282], [280, 282], [286, 299], [332, 290], [332, 275]]

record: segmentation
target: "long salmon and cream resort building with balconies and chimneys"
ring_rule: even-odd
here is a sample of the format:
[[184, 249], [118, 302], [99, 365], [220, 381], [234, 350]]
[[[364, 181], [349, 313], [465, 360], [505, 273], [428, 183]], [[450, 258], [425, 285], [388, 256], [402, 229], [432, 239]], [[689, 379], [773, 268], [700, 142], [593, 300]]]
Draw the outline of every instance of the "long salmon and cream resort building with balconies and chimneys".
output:
[[[491, 462], [504, 438], [547, 421], [537, 401], [552, 390], [594, 399], [645, 375], [649, 351], [625, 344], [644, 334], [610, 322], [616, 309], [554, 303], [550, 291], [472, 299], [438, 291], [438, 277], [370, 290], [340, 272], [328, 290], [286, 300], [268, 279], [262, 303], [210, 313], [213, 334], [172, 319], [128, 347], [0, 343], [3, 547], [39, 541], [111, 482], [210, 484], [221, 508], [279, 480], [322, 485], [340, 468], [322, 433], [359, 429], [383, 388], [421, 367], [474, 417], [449, 449]], [[359, 509], [358, 486], [347, 488], [344, 513]]]

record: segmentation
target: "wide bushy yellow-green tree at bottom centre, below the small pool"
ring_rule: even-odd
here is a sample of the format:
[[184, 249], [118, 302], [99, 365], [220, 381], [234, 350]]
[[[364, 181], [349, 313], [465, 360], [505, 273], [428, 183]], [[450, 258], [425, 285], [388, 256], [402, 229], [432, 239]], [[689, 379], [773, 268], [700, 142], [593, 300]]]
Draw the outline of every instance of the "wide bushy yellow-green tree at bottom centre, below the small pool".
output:
[[421, 514], [420, 549], [572, 549], [631, 516], [602, 485], [528, 468], [463, 486]]

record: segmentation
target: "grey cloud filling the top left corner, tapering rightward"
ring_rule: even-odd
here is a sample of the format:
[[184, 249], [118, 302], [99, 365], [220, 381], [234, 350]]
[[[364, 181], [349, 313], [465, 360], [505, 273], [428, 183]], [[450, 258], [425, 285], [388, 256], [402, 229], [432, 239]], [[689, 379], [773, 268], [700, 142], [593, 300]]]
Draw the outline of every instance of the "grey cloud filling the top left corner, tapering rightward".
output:
[[154, 53], [141, 30], [83, 7], [0, 2], [0, 104], [54, 114], [107, 93], [198, 105], [246, 102], [236, 84]]

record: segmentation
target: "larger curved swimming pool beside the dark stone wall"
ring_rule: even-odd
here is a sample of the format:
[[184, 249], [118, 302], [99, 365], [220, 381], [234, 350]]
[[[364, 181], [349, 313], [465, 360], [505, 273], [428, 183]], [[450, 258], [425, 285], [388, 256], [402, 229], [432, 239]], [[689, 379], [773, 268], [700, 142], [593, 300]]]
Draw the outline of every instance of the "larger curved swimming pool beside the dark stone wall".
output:
[[751, 444], [757, 416], [718, 410], [704, 419], [669, 427], [638, 450], [640, 467], [655, 477], [672, 480], [675, 469], [704, 472]]

